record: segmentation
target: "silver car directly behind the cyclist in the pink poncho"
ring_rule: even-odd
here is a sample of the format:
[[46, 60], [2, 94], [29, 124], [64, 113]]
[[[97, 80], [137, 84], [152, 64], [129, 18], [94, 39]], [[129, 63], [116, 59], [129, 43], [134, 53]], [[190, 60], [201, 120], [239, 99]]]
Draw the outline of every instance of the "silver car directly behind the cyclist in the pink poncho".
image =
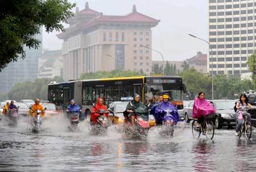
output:
[[234, 111], [234, 100], [211, 101], [216, 109], [214, 124], [216, 128], [222, 126], [236, 126], [236, 112]]

